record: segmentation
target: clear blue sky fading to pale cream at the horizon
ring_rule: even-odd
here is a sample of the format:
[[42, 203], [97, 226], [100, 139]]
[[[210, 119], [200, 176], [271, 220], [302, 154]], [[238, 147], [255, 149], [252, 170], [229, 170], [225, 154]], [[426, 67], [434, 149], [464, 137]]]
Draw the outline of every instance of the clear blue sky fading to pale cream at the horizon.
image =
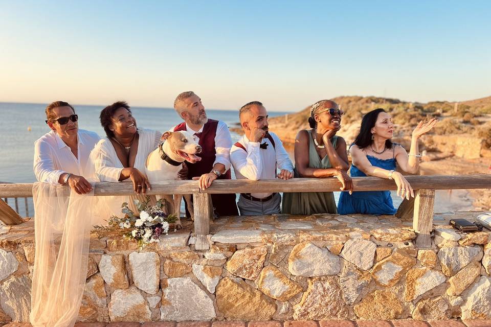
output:
[[299, 110], [491, 96], [489, 1], [0, 0], [0, 101]]

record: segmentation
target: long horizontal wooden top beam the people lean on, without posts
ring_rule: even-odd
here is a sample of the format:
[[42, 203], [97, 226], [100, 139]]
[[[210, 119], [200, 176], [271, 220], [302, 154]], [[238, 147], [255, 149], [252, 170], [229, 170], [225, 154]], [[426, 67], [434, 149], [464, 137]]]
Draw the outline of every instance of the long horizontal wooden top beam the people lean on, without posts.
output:
[[[414, 190], [490, 189], [490, 174], [406, 176]], [[396, 190], [393, 180], [378, 177], [354, 177], [354, 191]], [[339, 191], [341, 183], [336, 178], [294, 178], [251, 181], [245, 179], [215, 180], [210, 188], [199, 190], [196, 180], [173, 180], [153, 183], [152, 194], [193, 193], [262, 193], [262, 192], [327, 192]], [[132, 185], [123, 183], [96, 183], [94, 195], [133, 195]], [[0, 197], [32, 197], [32, 184], [0, 184]]]

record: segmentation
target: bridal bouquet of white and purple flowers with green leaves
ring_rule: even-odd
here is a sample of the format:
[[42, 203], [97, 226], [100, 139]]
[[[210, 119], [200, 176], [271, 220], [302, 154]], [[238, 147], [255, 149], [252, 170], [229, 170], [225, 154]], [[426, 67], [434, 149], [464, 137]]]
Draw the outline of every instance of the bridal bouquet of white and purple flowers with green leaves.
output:
[[121, 212], [124, 217], [111, 216], [108, 223], [109, 227], [119, 226], [120, 228], [128, 229], [123, 236], [126, 239], [137, 241], [141, 250], [147, 244], [159, 242], [159, 237], [162, 234], [167, 235], [169, 224], [175, 222], [177, 217], [173, 214], [167, 215], [164, 213], [164, 199], [160, 199], [154, 205], [149, 204], [150, 197], [148, 196], [143, 202], [137, 199], [134, 202], [140, 217], [137, 217], [128, 207], [128, 203], [124, 202], [121, 205]]

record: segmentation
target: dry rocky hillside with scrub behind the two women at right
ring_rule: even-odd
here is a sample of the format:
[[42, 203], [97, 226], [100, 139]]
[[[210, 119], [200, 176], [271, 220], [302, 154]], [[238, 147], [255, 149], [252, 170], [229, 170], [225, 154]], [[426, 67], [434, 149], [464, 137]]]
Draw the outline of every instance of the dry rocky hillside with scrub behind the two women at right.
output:
[[[384, 108], [396, 124], [394, 141], [408, 147], [411, 131], [420, 120], [437, 117], [435, 130], [422, 138], [422, 149], [462, 157], [491, 156], [491, 97], [454, 102], [405, 102], [377, 97], [337, 97], [333, 99], [345, 111], [338, 135], [351, 143], [358, 133], [364, 113]], [[310, 106], [284, 116], [271, 118], [270, 129], [285, 145], [293, 145], [301, 129], [308, 128]], [[459, 152], [460, 151], [460, 152]]]

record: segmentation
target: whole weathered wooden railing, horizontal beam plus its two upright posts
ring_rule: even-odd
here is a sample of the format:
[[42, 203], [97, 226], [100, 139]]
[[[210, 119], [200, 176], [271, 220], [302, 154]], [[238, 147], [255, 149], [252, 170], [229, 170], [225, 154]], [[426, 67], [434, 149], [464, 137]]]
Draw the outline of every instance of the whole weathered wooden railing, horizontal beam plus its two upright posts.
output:
[[[433, 225], [435, 190], [491, 189], [491, 175], [436, 175], [406, 176], [415, 190], [413, 228], [416, 232], [416, 246], [431, 246], [430, 233]], [[197, 250], [209, 248], [207, 235], [210, 233], [210, 219], [213, 217], [209, 194], [222, 193], [268, 193], [268, 192], [329, 192], [339, 191], [341, 183], [334, 178], [295, 178], [291, 180], [215, 180], [210, 188], [200, 190], [195, 180], [153, 183], [147, 194], [193, 194], [194, 231]], [[397, 190], [393, 180], [377, 177], [354, 177], [355, 191]], [[133, 195], [130, 183], [96, 183], [95, 196]], [[0, 184], [0, 197], [30, 197], [32, 184]]]

